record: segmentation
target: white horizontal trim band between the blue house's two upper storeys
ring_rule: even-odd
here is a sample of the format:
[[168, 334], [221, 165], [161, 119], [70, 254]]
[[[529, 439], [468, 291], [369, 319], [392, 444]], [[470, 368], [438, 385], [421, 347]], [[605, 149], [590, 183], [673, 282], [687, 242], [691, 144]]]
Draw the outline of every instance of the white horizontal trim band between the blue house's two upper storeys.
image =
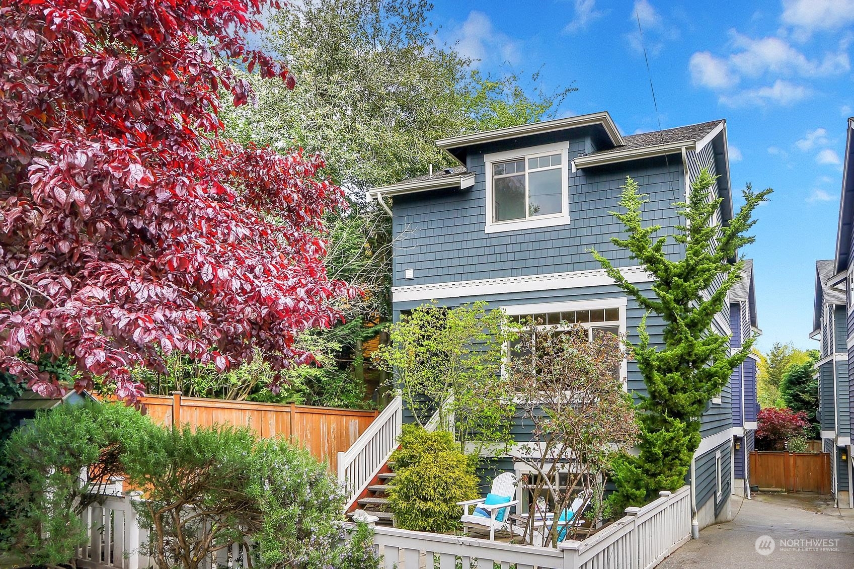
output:
[[[620, 273], [630, 283], [645, 283], [652, 280], [643, 267], [625, 267]], [[613, 285], [614, 280], [604, 269], [551, 273], [504, 279], [465, 280], [433, 285], [394, 286], [391, 289], [393, 302], [430, 301], [460, 296], [488, 296], [508, 292], [533, 292], [536, 290], [576, 289], [582, 286]]]

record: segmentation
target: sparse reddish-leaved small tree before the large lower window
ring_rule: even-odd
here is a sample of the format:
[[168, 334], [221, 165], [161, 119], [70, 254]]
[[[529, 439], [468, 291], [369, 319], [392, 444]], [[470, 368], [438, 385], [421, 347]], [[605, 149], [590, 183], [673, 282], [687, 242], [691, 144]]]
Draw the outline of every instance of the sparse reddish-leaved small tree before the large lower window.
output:
[[[589, 341], [580, 325], [529, 326], [508, 364], [518, 408], [533, 425], [531, 440], [517, 460], [534, 472], [529, 480], [530, 510], [541, 498], [551, 502], [555, 518], [580, 492], [592, 496], [593, 517], [601, 512], [605, 479], [615, 455], [637, 441], [635, 408], [619, 377], [621, 338], [601, 332]], [[565, 484], [559, 478], [565, 476]], [[576, 512], [575, 514], [580, 514]], [[553, 526], [547, 543], [557, 544]], [[533, 516], [527, 535], [533, 536]], [[575, 534], [574, 526], [565, 532]]]

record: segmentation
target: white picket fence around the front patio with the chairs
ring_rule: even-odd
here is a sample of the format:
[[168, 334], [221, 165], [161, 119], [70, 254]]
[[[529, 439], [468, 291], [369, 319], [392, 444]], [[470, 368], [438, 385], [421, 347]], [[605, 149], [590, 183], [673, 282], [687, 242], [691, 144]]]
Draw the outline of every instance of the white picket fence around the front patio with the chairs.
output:
[[374, 528], [374, 544], [386, 569], [650, 569], [691, 538], [689, 486], [626, 512], [584, 541], [557, 549], [383, 526]]

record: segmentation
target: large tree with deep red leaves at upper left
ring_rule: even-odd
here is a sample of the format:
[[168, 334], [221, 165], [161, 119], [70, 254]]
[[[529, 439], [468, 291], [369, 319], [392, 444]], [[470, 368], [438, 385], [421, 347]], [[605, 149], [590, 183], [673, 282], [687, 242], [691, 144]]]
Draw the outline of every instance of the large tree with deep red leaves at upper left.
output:
[[[316, 155], [219, 137], [223, 61], [294, 78], [244, 38], [258, 0], [0, 0], [0, 369], [56, 393], [180, 350], [219, 369], [340, 318], [322, 216], [342, 191]], [[38, 365], [38, 361], [43, 363]], [[33, 363], [37, 362], [37, 363]]]

